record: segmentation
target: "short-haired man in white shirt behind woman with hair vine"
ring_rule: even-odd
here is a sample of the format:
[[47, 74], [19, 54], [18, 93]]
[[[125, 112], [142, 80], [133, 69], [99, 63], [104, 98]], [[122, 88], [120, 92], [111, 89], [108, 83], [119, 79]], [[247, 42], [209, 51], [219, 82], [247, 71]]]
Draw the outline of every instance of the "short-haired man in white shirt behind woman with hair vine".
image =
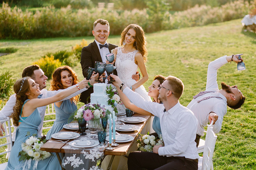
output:
[[[37, 84], [39, 84], [39, 88], [41, 90], [41, 95], [40, 95], [41, 98], [51, 97], [63, 90], [66, 90], [66, 89], [60, 89], [58, 91], [56, 91], [56, 90], [55, 91], [47, 91], [46, 89], [44, 89], [44, 88], [46, 88], [46, 80], [48, 79], [48, 77], [46, 77], [44, 75], [43, 70], [38, 65], [32, 65], [32, 66], [25, 67], [23, 69], [22, 77], [27, 77], [27, 76], [31, 77]], [[69, 88], [72, 88], [72, 87], [73, 86], [71, 86]], [[69, 89], [69, 88], [67, 88], [67, 89]], [[66, 97], [65, 99], [63, 99], [61, 101], [70, 99], [70, 98], [80, 94], [84, 90], [86, 90], [86, 88], [78, 90], [76, 93]], [[15, 103], [16, 103], [16, 94], [13, 94], [12, 96], [10, 96], [9, 100], [7, 101], [7, 103], [5, 104], [3, 109], [0, 111], [0, 120], [4, 120], [7, 117], [11, 116], [11, 114], [13, 113], [13, 106], [15, 105]], [[41, 119], [42, 119], [41, 124], [38, 126], [38, 133], [37, 133], [38, 137], [41, 137], [41, 134], [43, 131], [43, 121], [44, 121], [44, 114], [45, 114], [46, 107], [47, 106], [37, 108], [40, 113]], [[0, 127], [4, 131], [4, 127], [1, 123], [0, 123]], [[0, 128], [0, 136], [3, 136], [1, 128]], [[15, 141], [16, 129], [17, 129], [17, 126], [14, 126], [14, 132], [12, 133], [12, 141]]]

